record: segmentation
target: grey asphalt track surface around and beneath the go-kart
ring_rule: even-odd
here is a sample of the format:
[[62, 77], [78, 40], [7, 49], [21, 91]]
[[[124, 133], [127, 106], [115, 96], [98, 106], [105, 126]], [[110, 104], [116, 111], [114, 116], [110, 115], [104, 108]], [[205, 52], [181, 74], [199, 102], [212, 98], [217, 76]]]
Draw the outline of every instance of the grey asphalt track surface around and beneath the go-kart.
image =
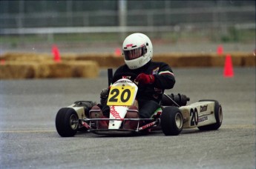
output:
[[222, 67], [173, 69], [177, 83], [165, 93], [186, 94], [189, 103], [217, 99], [219, 130], [62, 138], [56, 112], [76, 100], [99, 102], [105, 70], [96, 79], [1, 80], [0, 168], [255, 168], [255, 67], [236, 67], [233, 78]]

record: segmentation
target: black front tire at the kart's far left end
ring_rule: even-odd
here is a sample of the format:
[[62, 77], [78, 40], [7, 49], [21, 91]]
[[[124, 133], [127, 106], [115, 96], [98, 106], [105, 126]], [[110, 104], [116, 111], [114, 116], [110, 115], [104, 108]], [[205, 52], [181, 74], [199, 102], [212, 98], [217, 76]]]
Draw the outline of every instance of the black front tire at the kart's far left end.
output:
[[55, 125], [59, 136], [74, 136], [79, 127], [76, 111], [69, 107], [61, 108], [56, 115]]

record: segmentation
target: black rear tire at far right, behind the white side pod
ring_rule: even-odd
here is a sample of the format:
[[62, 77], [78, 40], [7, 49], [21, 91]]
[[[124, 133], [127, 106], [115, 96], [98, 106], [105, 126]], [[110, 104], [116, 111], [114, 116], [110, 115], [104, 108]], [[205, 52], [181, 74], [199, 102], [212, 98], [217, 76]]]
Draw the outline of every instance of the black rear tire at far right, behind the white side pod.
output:
[[216, 119], [216, 123], [212, 125], [205, 125], [198, 127], [199, 130], [217, 130], [220, 128], [222, 121], [223, 121], [223, 112], [222, 112], [222, 107], [217, 100], [209, 100], [209, 99], [204, 99], [200, 100], [198, 102], [214, 102], [214, 116]]

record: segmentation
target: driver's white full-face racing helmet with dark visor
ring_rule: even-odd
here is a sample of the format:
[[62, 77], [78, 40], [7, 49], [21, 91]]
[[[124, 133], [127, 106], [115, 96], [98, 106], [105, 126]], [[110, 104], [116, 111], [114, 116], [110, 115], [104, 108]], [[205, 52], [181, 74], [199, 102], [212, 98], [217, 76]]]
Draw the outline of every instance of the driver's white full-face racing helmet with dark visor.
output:
[[130, 69], [137, 69], [151, 61], [153, 45], [148, 36], [142, 33], [133, 33], [122, 44], [125, 64]]

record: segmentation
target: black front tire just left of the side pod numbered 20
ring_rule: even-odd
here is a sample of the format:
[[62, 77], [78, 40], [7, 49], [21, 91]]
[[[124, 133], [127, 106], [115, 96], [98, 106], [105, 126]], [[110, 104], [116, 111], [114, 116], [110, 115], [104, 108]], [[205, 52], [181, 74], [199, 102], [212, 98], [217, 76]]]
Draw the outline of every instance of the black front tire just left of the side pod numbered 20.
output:
[[177, 136], [183, 130], [183, 114], [178, 107], [163, 108], [160, 126], [165, 136]]

